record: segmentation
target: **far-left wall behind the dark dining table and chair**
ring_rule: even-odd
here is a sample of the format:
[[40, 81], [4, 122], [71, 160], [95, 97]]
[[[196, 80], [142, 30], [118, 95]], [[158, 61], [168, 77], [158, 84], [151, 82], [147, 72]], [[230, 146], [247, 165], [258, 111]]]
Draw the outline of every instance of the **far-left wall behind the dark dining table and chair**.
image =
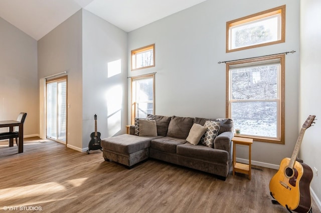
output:
[[37, 136], [37, 41], [1, 17], [0, 75], [0, 120], [17, 119], [20, 112], [27, 112], [24, 135]]

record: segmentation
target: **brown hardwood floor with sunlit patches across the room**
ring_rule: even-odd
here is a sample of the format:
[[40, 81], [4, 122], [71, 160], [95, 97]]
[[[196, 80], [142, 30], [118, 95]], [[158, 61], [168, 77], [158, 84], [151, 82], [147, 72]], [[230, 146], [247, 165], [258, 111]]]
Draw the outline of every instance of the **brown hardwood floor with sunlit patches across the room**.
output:
[[[288, 212], [271, 203], [276, 170], [264, 167], [254, 166], [252, 180], [230, 172], [226, 181], [153, 159], [128, 170], [104, 161], [100, 150], [81, 153], [39, 138], [19, 154], [1, 141], [0, 159], [0, 211]], [[314, 201], [312, 209], [320, 212]]]

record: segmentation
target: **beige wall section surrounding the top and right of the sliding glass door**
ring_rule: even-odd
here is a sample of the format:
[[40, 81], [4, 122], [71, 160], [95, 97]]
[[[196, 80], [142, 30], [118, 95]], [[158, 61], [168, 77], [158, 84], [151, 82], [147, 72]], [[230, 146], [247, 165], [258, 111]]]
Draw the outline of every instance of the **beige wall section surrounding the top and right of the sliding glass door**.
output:
[[[38, 41], [38, 77], [68, 72], [68, 147], [82, 147], [82, 12], [79, 10]], [[38, 93], [39, 94], [39, 93]], [[37, 103], [39, 105], [39, 103]], [[39, 113], [39, 112], [38, 112]]]

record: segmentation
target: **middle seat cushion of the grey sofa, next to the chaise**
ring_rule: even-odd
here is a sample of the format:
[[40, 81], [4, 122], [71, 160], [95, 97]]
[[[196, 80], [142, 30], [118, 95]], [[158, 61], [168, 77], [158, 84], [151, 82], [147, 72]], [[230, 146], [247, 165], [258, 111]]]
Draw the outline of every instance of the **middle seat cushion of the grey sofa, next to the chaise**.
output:
[[185, 139], [166, 136], [151, 140], [150, 147], [159, 151], [176, 153], [176, 146], [183, 143], [186, 143]]

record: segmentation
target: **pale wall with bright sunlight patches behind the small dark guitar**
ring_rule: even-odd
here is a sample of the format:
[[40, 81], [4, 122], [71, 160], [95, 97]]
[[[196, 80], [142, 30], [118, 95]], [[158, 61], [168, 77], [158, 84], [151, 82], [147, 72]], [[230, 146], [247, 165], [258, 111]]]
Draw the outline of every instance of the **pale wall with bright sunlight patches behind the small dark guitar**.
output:
[[[82, 32], [82, 148], [86, 149], [90, 133], [94, 131], [94, 114], [97, 114], [101, 138], [125, 133], [127, 33], [87, 10], [83, 10]], [[112, 61], [118, 64], [114, 68], [110, 65]]]

